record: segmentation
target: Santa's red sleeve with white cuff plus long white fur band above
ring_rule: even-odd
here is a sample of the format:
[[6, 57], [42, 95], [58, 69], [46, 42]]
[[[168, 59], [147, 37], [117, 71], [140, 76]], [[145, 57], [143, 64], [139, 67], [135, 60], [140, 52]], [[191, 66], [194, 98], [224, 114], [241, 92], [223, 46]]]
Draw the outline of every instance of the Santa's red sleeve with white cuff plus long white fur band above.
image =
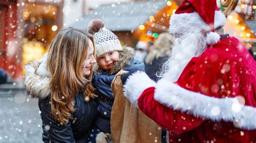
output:
[[[256, 118], [255, 108], [241, 106], [235, 98], [215, 98], [187, 90], [165, 79], [156, 84], [144, 72], [129, 76], [124, 95], [145, 115], [173, 133], [192, 130], [203, 119], [228, 121], [243, 129], [256, 128], [252, 121]], [[236, 106], [239, 112], [234, 112]], [[248, 111], [253, 117], [246, 116]]]

